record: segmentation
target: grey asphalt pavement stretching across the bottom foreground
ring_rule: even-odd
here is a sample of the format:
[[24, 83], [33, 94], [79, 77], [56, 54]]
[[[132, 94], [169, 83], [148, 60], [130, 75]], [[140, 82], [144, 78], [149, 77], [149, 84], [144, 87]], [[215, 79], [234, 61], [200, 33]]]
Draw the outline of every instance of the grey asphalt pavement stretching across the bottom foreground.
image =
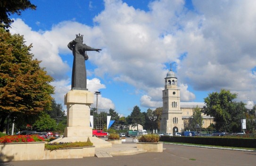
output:
[[[129, 142], [127, 142], [129, 143]], [[163, 152], [113, 158], [86, 157], [2, 162], [0, 166], [256, 166], [256, 152], [164, 144]]]

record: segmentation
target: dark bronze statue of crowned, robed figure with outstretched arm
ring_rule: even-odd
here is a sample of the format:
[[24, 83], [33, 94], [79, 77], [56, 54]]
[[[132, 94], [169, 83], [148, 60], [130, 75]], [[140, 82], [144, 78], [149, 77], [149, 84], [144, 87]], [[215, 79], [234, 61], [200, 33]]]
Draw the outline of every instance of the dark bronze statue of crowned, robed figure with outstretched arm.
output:
[[74, 56], [71, 89], [87, 91], [85, 60], [88, 60], [89, 57], [86, 51], [99, 52], [101, 49], [91, 48], [83, 44], [83, 35], [80, 35], [80, 33], [76, 35], [73, 41], [68, 43], [67, 47], [73, 51]]

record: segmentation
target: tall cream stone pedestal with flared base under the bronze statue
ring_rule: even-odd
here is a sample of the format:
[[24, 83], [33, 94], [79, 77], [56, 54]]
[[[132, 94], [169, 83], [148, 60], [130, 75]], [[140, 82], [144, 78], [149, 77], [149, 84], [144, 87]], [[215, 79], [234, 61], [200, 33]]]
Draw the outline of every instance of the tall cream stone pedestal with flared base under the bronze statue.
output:
[[90, 106], [93, 104], [93, 93], [71, 90], [66, 93], [64, 104], [67, 108], [67, 127], [64, 131], [64, 137], [53, 140], [51, 143], [87, 142], [89, 139], [96, 147], [112, 146], [111, 143], [92, 137]]

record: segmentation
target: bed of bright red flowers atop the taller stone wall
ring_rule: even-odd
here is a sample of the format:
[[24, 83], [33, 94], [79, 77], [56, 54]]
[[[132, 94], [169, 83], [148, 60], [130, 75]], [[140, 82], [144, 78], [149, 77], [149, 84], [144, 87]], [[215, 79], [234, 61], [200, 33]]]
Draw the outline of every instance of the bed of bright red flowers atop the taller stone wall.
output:
[[28, 143], [28, 142], [42, 142], [43, 137], [38, 135], [15, 135], [15, 136], [2, 136], [0, 143]]

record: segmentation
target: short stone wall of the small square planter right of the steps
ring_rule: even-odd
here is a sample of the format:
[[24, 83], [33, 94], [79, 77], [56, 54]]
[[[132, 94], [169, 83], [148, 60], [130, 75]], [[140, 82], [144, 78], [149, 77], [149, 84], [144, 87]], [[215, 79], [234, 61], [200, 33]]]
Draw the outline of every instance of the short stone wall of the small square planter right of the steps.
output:
[[163, 152], [163, 142], [158, 143], [136, 143], [137, 149], [146, 150], [148, 152]]

